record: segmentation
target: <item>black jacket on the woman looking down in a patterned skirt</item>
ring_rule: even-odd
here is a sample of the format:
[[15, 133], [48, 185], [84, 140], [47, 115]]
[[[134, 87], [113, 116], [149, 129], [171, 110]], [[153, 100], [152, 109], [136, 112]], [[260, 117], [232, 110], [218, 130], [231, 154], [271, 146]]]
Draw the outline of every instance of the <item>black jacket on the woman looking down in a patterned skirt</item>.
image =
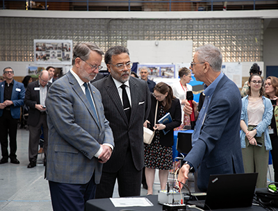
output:
[[[149, 112], [148, 120], [150, 122], [149, 129], [154, 130], [154, 117], [156, 112], [156, 98], [151, 94], [152, 98], [152, 107]], [[159, 102], [158, 102], [159, 107]], [[181, 125], [181, 103], [179, 103], [179, 99], [173, 99], [171, 108], [167, 111], [170, 112], [172, 117], [172, 122], [169, 124], [165, 124], [165, 130], [170, 130], [168, 133], [164, 135], [163, 130], [160, 130], [160, 140], [162, 146], [173, 146], [174, 144], [174, 128], [177, 128]], [[159, 109], [157, 109], [156, 122], [158, 118]], [[155, 138], [155, 137], [154, 137]]]

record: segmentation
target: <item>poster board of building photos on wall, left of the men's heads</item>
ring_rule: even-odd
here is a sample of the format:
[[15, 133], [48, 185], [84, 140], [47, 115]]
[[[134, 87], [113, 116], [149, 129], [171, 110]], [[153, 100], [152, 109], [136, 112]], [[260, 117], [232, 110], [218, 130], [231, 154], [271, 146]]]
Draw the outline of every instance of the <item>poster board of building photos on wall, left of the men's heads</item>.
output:
[[72, 40], [34, 40], [35, 64], [71, 65]]

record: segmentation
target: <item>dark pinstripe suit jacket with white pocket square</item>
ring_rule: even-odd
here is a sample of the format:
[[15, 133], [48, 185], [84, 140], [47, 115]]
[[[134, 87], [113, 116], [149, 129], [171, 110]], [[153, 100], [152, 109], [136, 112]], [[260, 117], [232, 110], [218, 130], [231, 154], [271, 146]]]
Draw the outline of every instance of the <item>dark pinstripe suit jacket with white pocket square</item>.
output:
[[128, 146], [131, 147], [133, 163], [136, 169], [144, 166], [143, 124], [149, 116], [151, 99], [146, 81], [129, 78], [131, 91], [131, 117], [128, 122], [117, 87], [111, 75], [92, 83], [102, 96], [104, 114], [108, 119], [115, 141], [113, 154], [104, 164], [104, 171], [116, 172], [124, 164]]

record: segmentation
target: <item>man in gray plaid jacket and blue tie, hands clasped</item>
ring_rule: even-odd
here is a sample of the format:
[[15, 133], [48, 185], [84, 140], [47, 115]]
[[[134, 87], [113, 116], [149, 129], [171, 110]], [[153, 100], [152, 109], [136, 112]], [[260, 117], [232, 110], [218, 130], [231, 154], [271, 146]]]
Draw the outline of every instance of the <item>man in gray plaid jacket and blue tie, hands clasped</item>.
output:
[[90, 42], [77, 44], [73, 53], [72, 69], [51, 86], [46, 100], [46, 176], [54, 211], [84, 210], [95, 198], [102, 165], [114, 146], [101, 95], [88, 83], [101, 69], [104, 53]]

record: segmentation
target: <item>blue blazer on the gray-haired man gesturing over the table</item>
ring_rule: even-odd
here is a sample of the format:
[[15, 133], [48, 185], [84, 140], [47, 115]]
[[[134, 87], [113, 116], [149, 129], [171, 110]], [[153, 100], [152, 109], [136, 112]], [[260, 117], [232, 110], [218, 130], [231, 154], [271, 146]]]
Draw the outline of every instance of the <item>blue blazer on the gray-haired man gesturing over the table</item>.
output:
[[197, 185], [206, 192], [211, 174], [244, 173], [240, 146], [241, 96], [236, 84], [223, 76], [208, 105], [204, 125], [185, 161], [198, 169]]

